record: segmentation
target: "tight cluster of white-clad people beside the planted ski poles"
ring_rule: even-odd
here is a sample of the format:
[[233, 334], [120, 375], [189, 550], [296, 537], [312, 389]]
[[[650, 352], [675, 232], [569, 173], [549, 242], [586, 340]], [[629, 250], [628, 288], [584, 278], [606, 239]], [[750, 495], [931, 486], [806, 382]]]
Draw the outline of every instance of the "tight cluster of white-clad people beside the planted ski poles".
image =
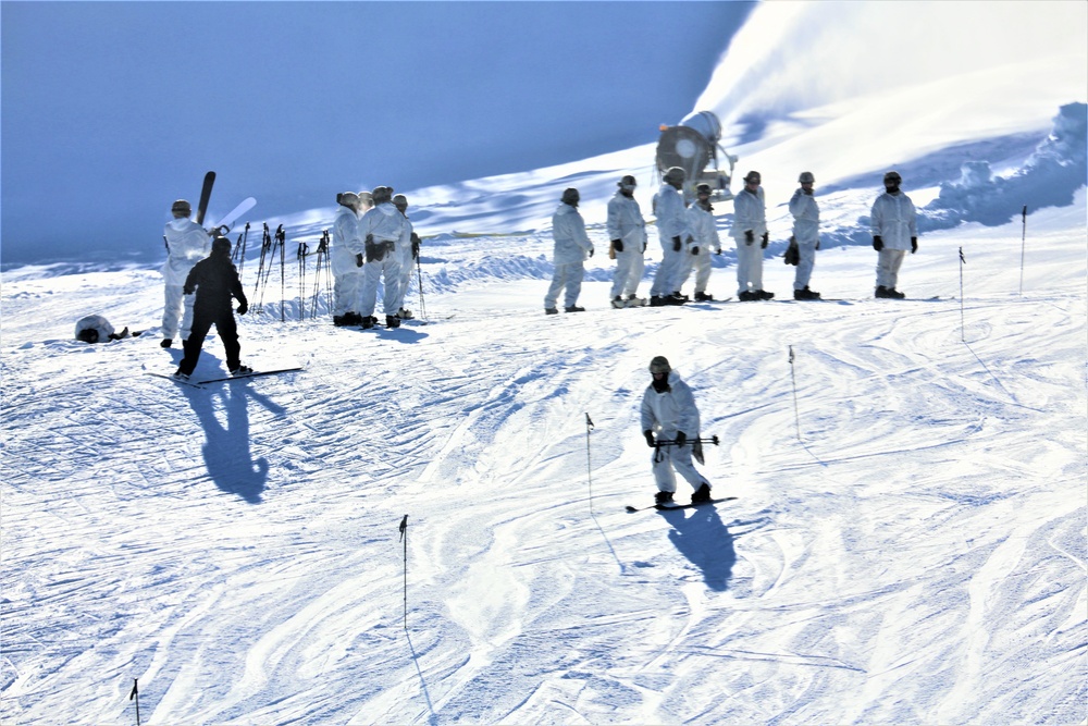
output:
[[405, 307], [419, 235], [408, 219], [408, 199], [388, 186], [336, 195], [333, 224], [333, 324], [373, 328], [378, 323], [378, 286], [387, 328], [412, 317]]

